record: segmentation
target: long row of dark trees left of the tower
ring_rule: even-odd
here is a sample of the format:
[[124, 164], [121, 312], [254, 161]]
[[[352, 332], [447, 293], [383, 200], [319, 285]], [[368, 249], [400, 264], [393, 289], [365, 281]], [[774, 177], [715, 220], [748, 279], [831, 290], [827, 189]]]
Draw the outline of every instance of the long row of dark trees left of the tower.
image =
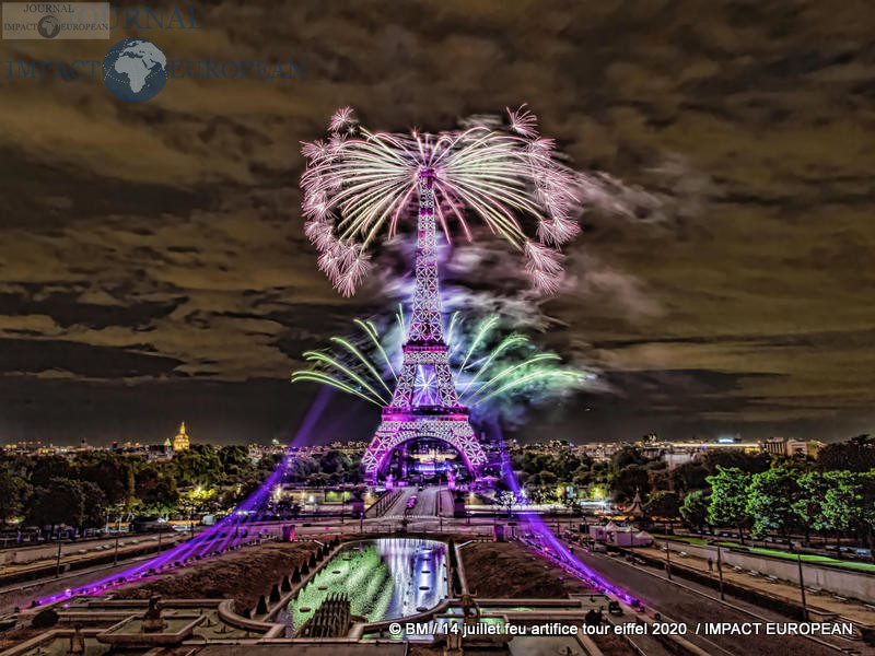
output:
[[[97, 527], [118, 517], [182, 516], [226, 511], [256, 490], [280, 455], [254, 461], [245, 446], [192, 444], [168, 460], [108, 450], [72, 458], [0, 459], [0, 524]], [[291, 461], [283, 482], [330, 485], [361, 480], [358, 459], [330, 450]]]

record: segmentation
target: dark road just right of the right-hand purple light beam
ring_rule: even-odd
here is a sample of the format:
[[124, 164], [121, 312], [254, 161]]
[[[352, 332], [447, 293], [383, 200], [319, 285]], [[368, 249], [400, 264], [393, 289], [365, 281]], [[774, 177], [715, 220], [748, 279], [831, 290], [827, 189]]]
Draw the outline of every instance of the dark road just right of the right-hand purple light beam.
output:
[[[714, 595], [713, 590], [696, 586], [696, 584], [686, 581], [669, 582], [664, 575], [658, 574], [656, 570], [650, 571], [646, 567], [632, 566], [619, 558], [599, 553], [584, 553], [579, 547], [575, 548], [574, 552], [587, 567], [610, 581], [618, 588], [641, 599], [650, 608], [660, 611], [666, 621], [686, 622], [689, 625], [689, 634], [685, 637], [713, 656], [836, 656], [838, 654], [835, 648], [824, 646], [802, 636], [711, 635], [704, 637], [702, 635], [692, 635], [696, 625], [699, 623], [760, 621], [744, 612], [744, 610], [749, 610], [760, 618], [766, 618], [766, 621], [783, 623], [793, 620], [727, 596], [727, 600], [732, 606], [743, 609], [736, 610], [714, 598], [712, 596]], [[698, 594], [699, 591], [702, 594]], [[829, 640], [843, 647], [860, 649], [861, 653], [866, 655], [875, 653], [875, 651], [867, 649], [860, 642], [841, 641], [841, 643], [838, 643], [835, 639]]]

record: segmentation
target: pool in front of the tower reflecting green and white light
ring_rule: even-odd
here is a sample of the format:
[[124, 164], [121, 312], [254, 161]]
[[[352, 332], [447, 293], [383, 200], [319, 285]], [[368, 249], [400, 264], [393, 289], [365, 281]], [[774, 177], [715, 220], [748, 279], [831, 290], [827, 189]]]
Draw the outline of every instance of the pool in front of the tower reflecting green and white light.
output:
[[345, 544], [289, 602], [293, 634], [332, 594], [346, 595], [353, 614], [370, 622], [415, 614], [446, 597], [446, 544], [381, 538]]

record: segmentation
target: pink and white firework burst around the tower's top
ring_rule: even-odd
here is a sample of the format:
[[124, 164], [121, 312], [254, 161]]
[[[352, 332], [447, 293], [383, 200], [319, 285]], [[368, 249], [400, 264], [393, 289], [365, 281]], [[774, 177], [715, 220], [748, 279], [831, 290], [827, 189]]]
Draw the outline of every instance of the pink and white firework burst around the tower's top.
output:
[[470, 221], [481, 221], [527, 257], [538, 290], [557, 291], [559, 247], [580, 231], [581, 191], [525, 105], [508, 109], [504, 125], [479, 120], [436, 134], [370, 132], [350, 107], [339, 109], [327, 141], [301, 149], [304, 230], [320, 253], [319, 269], [340, 293], [353, 294], [368, 273], [369, 247], [413, 216], [419, 178], [428, 174], [447, 242], [458, 231], [470, 241]]

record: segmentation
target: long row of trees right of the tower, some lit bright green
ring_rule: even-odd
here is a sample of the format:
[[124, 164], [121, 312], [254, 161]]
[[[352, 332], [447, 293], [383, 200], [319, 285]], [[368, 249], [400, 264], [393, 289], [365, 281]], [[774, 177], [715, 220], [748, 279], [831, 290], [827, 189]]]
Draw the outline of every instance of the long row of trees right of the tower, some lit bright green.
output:
[[860, 435], [827, 445], [816, 458], [711, 449], [668, 469], [661, 458], [625, 447], [609, 461], [570, 452], [522, 452], [514, 469], [535, 502], [573, 504], [609, 495], [620, 506], [635, 493], [654, 518], [682, 517], [692, 527], [734, 526], [744, 539], [768, 534], [852, 534], [872, 541], [875, 526], [875, 440]]

